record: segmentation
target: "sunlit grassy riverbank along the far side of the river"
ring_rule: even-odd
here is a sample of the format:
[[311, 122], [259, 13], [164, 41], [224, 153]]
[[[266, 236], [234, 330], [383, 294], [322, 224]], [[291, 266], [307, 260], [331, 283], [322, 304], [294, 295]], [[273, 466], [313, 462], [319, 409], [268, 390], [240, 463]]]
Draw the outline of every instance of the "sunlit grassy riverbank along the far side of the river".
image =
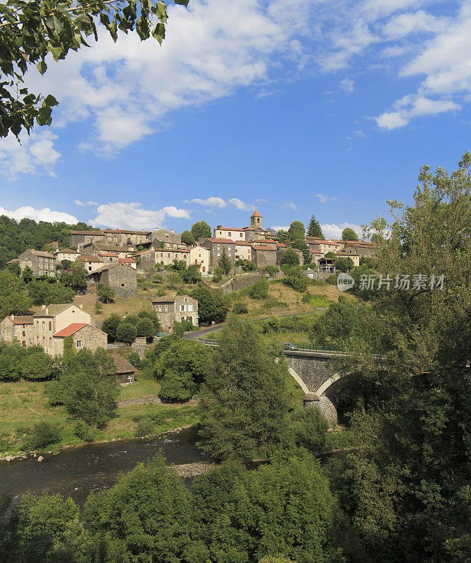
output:
[[[57, 453], [65, 448], [84, 445], [87, 442], [74, 434], [77, 420], [68, 416], [63, 406], [49, 405], [41, 381], [13, 381], [0, 383], [0, 459], [22, 457], [32, 450], [25, 447], [27, 432], [37, 422], [57, 424], [62, 431], [61, 441], [46, 446], [36, 453]], [[157, 396], [157, 381], [138, 377], [132, 386], [123, 387], [118, 400], [139, 396]], [[148, 403], [120, 407], [106, 429], [95, 430], [93, 443], [108, 443], [136, 437], [140, 419], [150, 420], [151, 436], [194, 426], [199, 422], [196, 401], [183, 405]], [[11, 457], [11, 459], [12, 459]]]

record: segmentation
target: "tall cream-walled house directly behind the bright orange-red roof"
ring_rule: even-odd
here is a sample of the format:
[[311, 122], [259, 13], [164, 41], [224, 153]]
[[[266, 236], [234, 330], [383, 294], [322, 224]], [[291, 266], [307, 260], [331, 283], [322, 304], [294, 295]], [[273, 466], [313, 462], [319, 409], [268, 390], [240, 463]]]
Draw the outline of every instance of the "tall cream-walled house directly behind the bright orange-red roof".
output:
[[54, 335], [70, 324], [89, 324], [91, 317], [81, 307], [65, 303], [43, 305], [42, 310], [32, 316], [32, 320], [32, 343], [42, 346], [49, 355], [54, 355]]

